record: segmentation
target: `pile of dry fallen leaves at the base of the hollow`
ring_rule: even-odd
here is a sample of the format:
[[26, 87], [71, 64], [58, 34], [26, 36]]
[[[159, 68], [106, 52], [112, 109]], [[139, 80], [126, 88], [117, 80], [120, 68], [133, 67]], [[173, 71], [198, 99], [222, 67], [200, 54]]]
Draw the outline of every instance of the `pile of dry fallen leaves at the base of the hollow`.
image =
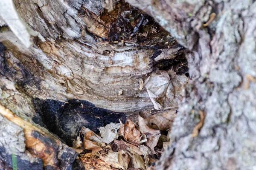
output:
[[168, 133], [176, 109], [147, 115], [138, 122], [110, 123], [99, 127], [99, 135], [82, 127], [73, 147], [86, 170], [153, 170], [163, 150], [169, 146]]

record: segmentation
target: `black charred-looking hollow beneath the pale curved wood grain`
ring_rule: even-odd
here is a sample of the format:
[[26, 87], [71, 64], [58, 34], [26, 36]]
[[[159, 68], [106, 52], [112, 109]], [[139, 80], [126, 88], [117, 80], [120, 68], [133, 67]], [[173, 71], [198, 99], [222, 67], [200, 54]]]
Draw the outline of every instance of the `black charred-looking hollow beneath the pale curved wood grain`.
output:
[[69, 146], [72, 146], [82, 126], [99, 133], [98, 127], [111, 122], [119, 123], [119, 119], [124, 123], [126, 119], [125, 113], [98, 108], [85, 100], [71, 99], [60, 102], [35, 98], [34, 106], [37, 114], [32, 120], [47, 127]]

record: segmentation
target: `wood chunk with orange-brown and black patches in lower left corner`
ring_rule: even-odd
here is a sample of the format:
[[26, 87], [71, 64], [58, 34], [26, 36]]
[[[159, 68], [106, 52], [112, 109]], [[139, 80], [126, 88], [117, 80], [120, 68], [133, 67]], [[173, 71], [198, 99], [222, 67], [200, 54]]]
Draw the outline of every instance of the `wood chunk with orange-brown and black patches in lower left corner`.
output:
[[70, 169], [77, 153], [0, 105], [0, 159], [19, 170]]

